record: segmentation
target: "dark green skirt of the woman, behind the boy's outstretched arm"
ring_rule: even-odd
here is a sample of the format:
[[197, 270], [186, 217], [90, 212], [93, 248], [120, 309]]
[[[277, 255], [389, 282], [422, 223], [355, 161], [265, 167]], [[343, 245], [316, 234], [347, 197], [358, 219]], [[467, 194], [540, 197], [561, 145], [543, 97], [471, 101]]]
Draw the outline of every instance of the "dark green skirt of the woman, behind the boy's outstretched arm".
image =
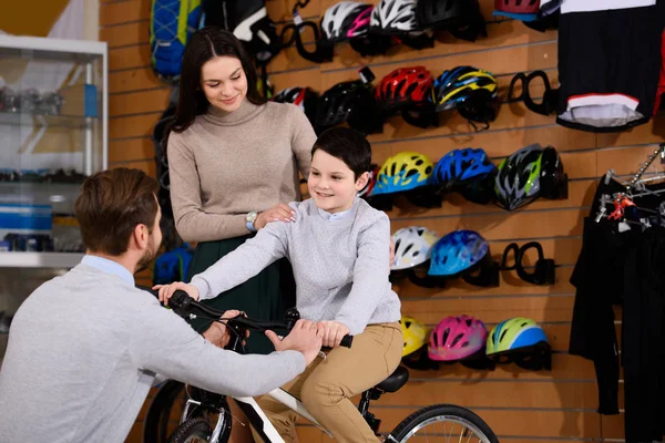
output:
[[[200, 243], [190, 265], [187, 281], [213, 266], [219, 258], [245, 243], [252, 236]], [[213, 309], [237, 309], [247, 317], [259, 320], [282, 320], [284, 312], [296, 305], [295, 281], [290, 264], [283, 258], [265, 268], [257, 276], [203, 302]], [[192, 327], [205, 331], [212, 320], [194, 319]], [[250, 332], [245, 347], [248, 353], [270, 353], [275, 347], [262, 332]]]

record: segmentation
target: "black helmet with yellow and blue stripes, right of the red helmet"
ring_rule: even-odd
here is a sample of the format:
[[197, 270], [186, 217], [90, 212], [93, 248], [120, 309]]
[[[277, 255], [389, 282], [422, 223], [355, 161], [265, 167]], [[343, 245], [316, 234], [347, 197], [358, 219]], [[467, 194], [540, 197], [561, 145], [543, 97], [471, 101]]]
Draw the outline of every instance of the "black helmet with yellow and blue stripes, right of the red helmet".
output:
[[473, 66], [458, 66], [434, 80], [432, 102], [437, 111], [457, 109], [472, 122], [491, 122], [497, 115], [499, 83], [494, 75]]

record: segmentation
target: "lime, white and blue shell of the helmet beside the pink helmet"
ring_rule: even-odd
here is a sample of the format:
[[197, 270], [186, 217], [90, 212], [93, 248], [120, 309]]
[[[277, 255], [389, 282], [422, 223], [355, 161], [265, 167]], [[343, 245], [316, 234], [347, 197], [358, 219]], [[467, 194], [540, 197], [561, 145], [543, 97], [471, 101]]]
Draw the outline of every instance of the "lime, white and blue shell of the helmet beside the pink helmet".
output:
[[515, 317], [497, 324], [488, 336], [488, 356], [516, 350], [532, 349], [548, 343], [545, 331], [531, 319]]

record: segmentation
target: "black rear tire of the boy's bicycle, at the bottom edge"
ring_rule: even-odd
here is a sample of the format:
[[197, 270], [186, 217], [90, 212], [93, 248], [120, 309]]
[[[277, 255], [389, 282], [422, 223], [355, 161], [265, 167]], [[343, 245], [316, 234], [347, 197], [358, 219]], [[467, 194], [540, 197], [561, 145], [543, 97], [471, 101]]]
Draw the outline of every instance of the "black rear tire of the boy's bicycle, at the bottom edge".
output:
[[482, 434], [478, 436], [482, 439], [483, 443], [499, 443], [497, 434], [494, 434], [492, 429], [475, 413], [466, 408], [443, 403], [433, 404], [413, 412], [392, 430], [390, 436], [386, 441], [399, 443], [407, 442], [412, 435], [412, 432], [418, 430], [418, 426], [423, 423], [432, 422], [438, 418], [450, 418], [453, 421], [461, 422], [461, 424], [464, 424], [474, 433]]

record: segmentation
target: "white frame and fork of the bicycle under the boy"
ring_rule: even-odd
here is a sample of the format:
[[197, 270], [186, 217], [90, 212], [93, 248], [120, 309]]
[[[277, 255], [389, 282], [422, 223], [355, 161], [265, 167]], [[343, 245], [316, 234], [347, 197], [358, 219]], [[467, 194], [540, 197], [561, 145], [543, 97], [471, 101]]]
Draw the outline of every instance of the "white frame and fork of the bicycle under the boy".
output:
[[[296, 399], [294, 395], [289, 394], [285, 390], [277, 388], [266, 395], [270, 396], [273, 400], [278, 401], [284, 404], [298, 415], [311, 422], [318, 429], [324, 431], [326, 434], [332, 436], [324, 426], [321, 426], [314, 416], [307, 411], [307, 408]], [[247, 420], [254, 427], [254, 430], [264, 439], [265, 443], [284, 443], [284, 439], [279, 435], [273, 423], [268, 420], [265, 412], [260, 409], [256, 400], [252, 396], [229, 396], [233, 399], [238, 408], [245, 413]], [[201, 405], [201, 402], [192, 399], [187, 399], [187, 403], [185, 404], [185, 409], [183, 411], [183, 415], [181, 418], [181, 422], [187, 420], [187, 415], [190, 412], [190, 405]], [[228, 418], [231, 419], [231, 418]], [[225, 416], [224, 414], [219, 414], [217, 418], [217, 423], [215, 424], [215, 429], [211, 435], [211, 440], [208, 443], [219, 443], [219, 434], [222, 432], [224, 425]]]

